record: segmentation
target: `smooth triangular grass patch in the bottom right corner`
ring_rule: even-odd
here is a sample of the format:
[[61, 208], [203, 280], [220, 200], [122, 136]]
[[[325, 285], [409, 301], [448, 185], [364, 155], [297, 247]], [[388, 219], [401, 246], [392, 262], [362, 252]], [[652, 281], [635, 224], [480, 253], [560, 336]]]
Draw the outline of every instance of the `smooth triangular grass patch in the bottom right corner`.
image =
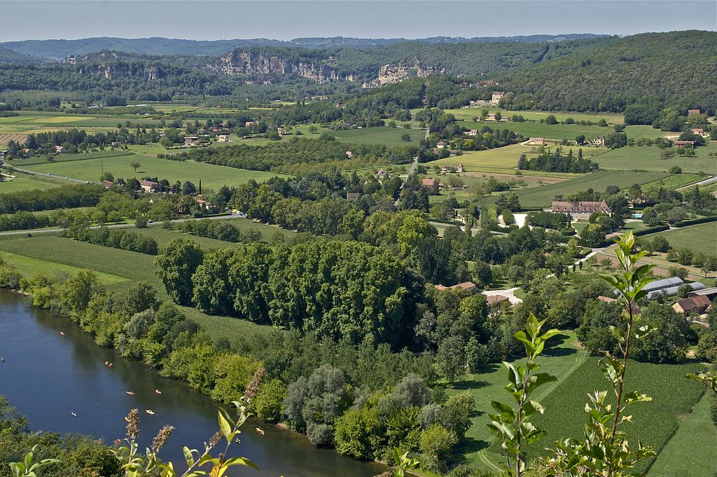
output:
[[717, 428], [710, 416], [711, 392], [705, 392], [677, 432], [657, 455], [649, 477], [717, 475]]

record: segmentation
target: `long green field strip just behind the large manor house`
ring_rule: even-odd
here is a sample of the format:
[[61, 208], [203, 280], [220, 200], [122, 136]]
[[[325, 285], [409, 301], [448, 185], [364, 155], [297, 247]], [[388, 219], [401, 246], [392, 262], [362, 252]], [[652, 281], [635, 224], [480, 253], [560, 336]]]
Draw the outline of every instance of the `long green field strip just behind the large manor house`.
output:
[[[556, 195], [566, 196], [576, 192], [593, 189], [597, 192], [604, 192], [609, 185], [618, 186], [620, 189], [630, 187], [632, 184], [645, 184], [647, 182], [662, 179], [668, 174], [665, 172], [635, 172], [635, 171], [595, 171], [581, 177], [576, 177], [559, 184], [519, 189], [516, 191], [518, 199], [523, 207], [550, 207]], [[497, 195], [485, 197], [480, 202], [492, 204]]]

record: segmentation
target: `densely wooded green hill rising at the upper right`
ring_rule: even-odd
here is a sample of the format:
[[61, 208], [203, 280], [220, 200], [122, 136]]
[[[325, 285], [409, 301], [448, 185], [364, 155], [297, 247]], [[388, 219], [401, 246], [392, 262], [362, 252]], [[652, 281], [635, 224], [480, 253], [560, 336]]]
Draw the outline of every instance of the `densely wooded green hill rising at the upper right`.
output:
[[717, 33], [637, 34], [498, 75], [506, 108], [622, 111], [657, 97], [714, 113]]

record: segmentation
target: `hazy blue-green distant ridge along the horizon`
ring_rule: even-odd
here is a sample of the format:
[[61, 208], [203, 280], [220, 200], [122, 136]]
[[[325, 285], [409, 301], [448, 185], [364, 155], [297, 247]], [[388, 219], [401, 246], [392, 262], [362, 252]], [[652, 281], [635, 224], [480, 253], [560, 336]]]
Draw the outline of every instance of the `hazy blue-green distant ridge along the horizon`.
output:
[[529, 36], [515, 37], [431, 37], [423, 39], [405, 38], [349, 38], [349, 37], [311, 37], [296, 38], [288, 42], [277, 39], [255, 38], [255, 39], [217, 39], [217, 40], [193, 40], [193, 39], [172, 39], [163, 37], [151, 38], [116, 38], [116, 37], [92, 37], [82, 39], [28, 39], [17, 42], [0, 43], [1, 47], [10, 49], [19, 55], [27, 57], [42, 58], [49, 60], [62, 60], [72, 55], [87, 55], [88, 53], [112, 50], [117, 52], [136, 53], [141, 55], [223, 55], [234, 48], [240, 47], [303, 47], [303, 48], [327, 48], [327, 47], [351, 47], [371, 48], [386, 44], [397, 44], [407, 42], [424, 43], [488, 43], [488, 42], [559, 42], [571, 39], [590, 39], [604, 37], [600, 34], [536, 34]]

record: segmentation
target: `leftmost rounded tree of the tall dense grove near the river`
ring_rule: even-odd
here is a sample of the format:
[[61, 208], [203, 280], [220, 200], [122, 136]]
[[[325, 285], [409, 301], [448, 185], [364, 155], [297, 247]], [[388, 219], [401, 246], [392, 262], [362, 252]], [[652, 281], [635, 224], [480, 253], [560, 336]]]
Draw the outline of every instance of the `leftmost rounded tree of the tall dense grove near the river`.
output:
[[192, 296], [191, 275], [201, 264], [204, 252], [198, 242], [176, 238], [162, 249], [154, 264], [164, 289], [175, 303], [189, 305]]

